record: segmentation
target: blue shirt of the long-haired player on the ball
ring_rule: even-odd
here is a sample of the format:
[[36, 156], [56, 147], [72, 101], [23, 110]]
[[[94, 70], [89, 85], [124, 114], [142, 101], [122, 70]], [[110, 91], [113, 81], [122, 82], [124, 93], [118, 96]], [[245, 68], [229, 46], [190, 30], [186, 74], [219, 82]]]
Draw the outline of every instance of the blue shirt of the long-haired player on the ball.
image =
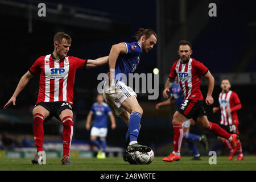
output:
[[117, 62], [115, 63], [115, 80], [123, 80], [123, 73], [126, 75], [126, 80], [129, 78], [129, 73], [133, 73], [138, 67], [139, 59], [141, 58], [141, 44], [138, 42], [125, 43], [126, 54], [119, 54]]

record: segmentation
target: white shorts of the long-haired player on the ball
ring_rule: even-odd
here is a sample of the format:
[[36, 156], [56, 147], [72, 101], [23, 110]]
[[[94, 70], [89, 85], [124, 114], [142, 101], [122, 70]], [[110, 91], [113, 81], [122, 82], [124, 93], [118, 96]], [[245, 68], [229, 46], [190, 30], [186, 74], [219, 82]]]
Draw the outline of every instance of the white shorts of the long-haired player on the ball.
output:
[[123, 113], [123, 111], [125, 111], [121, 105], [123, 101], [126, 100], [126, 98], [131, 96], [137, 97], [137, 94], [133, 91], [133, 89], [129, 86], [126, 86], [122, 81], [115, 80], [114, 93], [109, 93], [108, 87], [108, 84], [105, 82], [103, 86], [103, 97], [111, 109], [114, 110], [116, 115], [120, 115]]

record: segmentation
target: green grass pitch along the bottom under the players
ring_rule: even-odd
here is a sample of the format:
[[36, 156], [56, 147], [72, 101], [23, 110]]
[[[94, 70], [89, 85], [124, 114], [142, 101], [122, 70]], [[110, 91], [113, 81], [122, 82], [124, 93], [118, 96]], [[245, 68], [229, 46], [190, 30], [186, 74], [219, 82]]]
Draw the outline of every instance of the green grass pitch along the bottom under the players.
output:
[[210, 165], [210, 156], [202, 160], [191, 160], [183, 156], [179, 162], [163, 162], [163, 157], [155, 157], [149, 165], [130, 165], [122, 158], [71, 158], [73, 165], [61, 165], [61, 159], [49, 158], [46, 165], [32, 164], [31, 159], [0, 159], [1, 171], [256, 171], [256, 156], [245, 156], [242, 161], [228, 161], [228, 156], [217, 156], [217, 164]]

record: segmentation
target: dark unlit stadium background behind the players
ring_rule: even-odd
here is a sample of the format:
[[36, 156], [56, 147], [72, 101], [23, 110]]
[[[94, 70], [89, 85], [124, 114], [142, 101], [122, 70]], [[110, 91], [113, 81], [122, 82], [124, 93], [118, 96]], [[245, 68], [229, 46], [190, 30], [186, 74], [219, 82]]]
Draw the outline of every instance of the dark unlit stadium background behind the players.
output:
[[[46, 4], [46, 17], [39, 17], [38, 3]], [[58, 3], [63, 9], [57, 11]], [[182, 4], [181, 2], [184, 2]], [[217, 16], [209, 17], [210, 2], [217, 5]], [[230, 1], [0, 1], [1, 21], [1, 106], [12, 96], [20, 77], [43, 55], [53, 51], [53, 36], [64, 31], [72, 37], [69, 55], [81, 59], [96, 59], [109, 54], [113, 44], [134, 42], [138, 28], [152, 28], [158, 34], [158, 43], [148, 54], [142, 55], [135, 72], [152, 73], [159, 68], [159, 98], [147, 100], [147, 94], [138, 94], [144, 114], [141, 120], [139, 142], [153, 147], [159, 155], [173, 138], [171, 115], [173, 106], [155, 110], [155, 104], [163, 101], [162, 91], [172, 63], [177, 57], [177, 43], [187, 39], [192, 43], [192, 57], [202, 61], [216, 78], [214, 104], [205, 106], [209, 121], [219, 123], [220, 113], [212, 114], [218, 105], [220, 78], [232, 75], [232, 90], [238, 93], [242, 109], [238, 111], [239, 130], [244, 154], [256, 153], [255, 73], [256, 73], [256, 14], [255, 2]], [[55, 13], [52, 13], [53, 10]], [[181, 11], [183, 15], [181, 15]], [[57, 13], [56, 13], [57, 12]], [[89, 18], [77, 18], [76, 14]], [[181, 18], [183, 17], [183, 18]], [[176, 41], [178, 40], [178, 41]], [[176, 45], [176, 47], [175, 47]], [[75, 112], [73, 140], [89, 142], [85, 119], [96, 101], [97, 76], [105, 73], [107, 65], [77, 71], [73, 97]], [[249, 74], [238, 81], [241, 74]], [[32, 136], [32, 107], [38, 94], [39, 76], [32, 78], [19, 94], [16, 106], [0, 110], [0, 134], [7, 132], [16, 140], [24, 135]], [[204, 97], [207, 85], [201, 86]], [[117, 119], [117, 129], [109, 129], [108, 145], [123, 147], [127, 126]], [[217, 137], [191, 127], [192, 133], [207, 134], [211, 148], [220, 142]], [[59, 136], [59, 123], [50, 121], [44, 125], [49, 136]], [[51, 138], [52, 139], [52, 138]], [[57, 138], [59, 139], [59, 138]], [[18, 145], [20, 146], [20, 144]], [[172, 147], [172, 144], [170, 145]], [[201, 148], [201, 146], [199, 146]], [[220, 146], [221, 147], [221, 146]], [[170, 150], [170, 148], [168, 148]], [[218, 149], [216, 149], [218, 150]], [[185, 148], [184, 148], [185, 152]], [[221, 154], [227, 154], [220, 148]]]

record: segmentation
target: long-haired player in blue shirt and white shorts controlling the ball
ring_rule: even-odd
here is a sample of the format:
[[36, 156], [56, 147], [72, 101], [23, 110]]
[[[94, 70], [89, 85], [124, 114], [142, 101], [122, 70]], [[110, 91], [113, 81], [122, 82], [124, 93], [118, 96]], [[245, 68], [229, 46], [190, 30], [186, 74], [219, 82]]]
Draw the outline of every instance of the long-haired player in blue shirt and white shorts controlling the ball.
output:
[[154, 47], [157, 36], [150, 28], [139, 28], [135, 39], [137, 42], [122, 42], [112, 46], [109, 53], [108, 78], [103, 86], [106, 103], [128, 126], [127, 148], [123, 159], [129, 163], [133, 161], [127, 159], [129, 152], [149, 152], [151, 148], [137, 142], [143, 110], [137, 101], [137, 94], [125, 82], [129, 74], [138, 67], [141, 53], [147, 53]]

